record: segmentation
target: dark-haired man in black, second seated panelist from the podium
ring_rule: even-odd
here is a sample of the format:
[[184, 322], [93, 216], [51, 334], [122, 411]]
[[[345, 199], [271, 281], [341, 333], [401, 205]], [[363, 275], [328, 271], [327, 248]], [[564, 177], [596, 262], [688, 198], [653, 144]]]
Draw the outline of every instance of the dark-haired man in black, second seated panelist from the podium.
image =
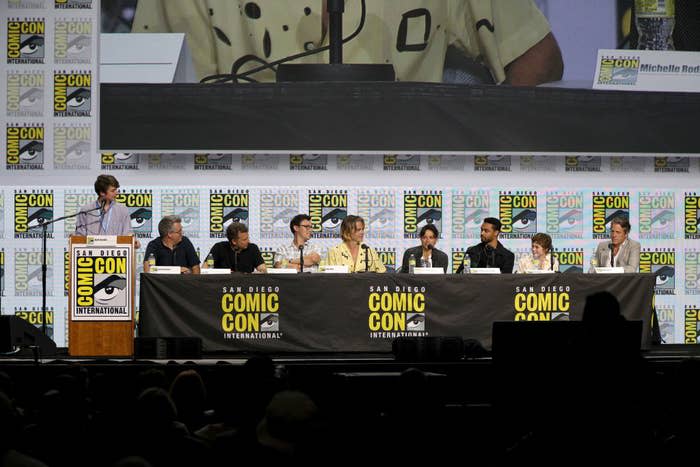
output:
[[[209, 254], [214, 258], [214, 267], [230, 269], [232, 272], [267, 272], [265, 260], [255, 243], [250, 243], [248, 226], [232, 222], [226, 229], [228, 240], [215, 243]], [[203, 265], [207, 268], [206, 262]]]

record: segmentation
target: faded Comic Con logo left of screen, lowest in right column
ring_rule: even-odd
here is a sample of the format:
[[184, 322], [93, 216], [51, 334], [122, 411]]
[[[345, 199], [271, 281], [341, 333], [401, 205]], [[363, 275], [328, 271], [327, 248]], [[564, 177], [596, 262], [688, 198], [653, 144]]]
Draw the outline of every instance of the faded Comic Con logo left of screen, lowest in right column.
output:
[[90, 138], [92, 128], [88, 124], [68, 125], [60, 123], [53, 129], [54, 169], [89, 169]]

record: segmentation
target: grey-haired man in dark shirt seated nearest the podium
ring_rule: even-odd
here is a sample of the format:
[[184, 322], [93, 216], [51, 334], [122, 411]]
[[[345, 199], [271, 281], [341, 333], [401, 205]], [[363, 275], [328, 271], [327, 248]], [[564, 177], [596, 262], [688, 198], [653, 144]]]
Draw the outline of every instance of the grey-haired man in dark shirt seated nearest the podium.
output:
[[199, 274], [199, 256], [182, 231], [182, 218], [165, 216], [158, 223], [159, 238], [153, 239], [146, 247], [143, 272], [150, 272], [148, 259], [155, 257], [156, 266], [180, 266], [183, 274]]

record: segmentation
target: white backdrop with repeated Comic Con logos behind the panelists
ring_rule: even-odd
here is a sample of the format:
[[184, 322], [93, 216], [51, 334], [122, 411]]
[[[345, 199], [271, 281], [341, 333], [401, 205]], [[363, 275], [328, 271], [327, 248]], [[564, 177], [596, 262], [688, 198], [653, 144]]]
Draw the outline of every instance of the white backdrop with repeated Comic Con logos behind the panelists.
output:
[[[4, 0], [0, 10], [0, 270], [3, 314], [41, 324], [43, 222], [94, 199], [100, 173], [122, 185], [144, 247], [163, 215], [183, 218], [205, 256], [229, 222], [249, 225], [266, 261], [289, 241], [290, 218], [309, 213], [315, 241], [339, 241], [347, 214], [367, 222], [367, 242], [389, 268], [432, 223], [452, 266], [477, 243], [484, 217], [504, 223], [516, 254], [528, 238], [554, 238], [562, 269], [588, 269], [612, 217], [628, 215], [642, 242], [641, 270], [657, 274], [657, 312], [669, 343], [695, 343], [700, 306], [696, 193], [700, 167], [688, 155], [628, 157], [498, 155], [100, 154], [97, 149], [99, 2]], [[48, 228], [48, 331], [67, 345], [67, 237]], [[138, 273], [139, 271], [137, 271]], [[138, 290], [137, 290], [138, 294]]]

